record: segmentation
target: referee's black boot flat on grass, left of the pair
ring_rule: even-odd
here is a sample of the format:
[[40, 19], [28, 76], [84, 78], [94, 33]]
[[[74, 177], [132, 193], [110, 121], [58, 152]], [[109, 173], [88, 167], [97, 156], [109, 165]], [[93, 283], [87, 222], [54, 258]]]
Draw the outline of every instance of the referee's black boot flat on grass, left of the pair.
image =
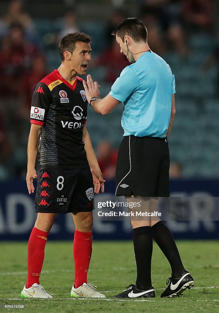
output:
[[155, 292], [154, 292], [154, 287], [151, 286], [149, 290], [141, 290], [138, 289], [136, 285], [129, 285], [126, 288], [128, 290], [125, 290], [124, 292], [114, 295], [113, 298], [117, 299], [123, 299], [123, 298], [155, 298]]

